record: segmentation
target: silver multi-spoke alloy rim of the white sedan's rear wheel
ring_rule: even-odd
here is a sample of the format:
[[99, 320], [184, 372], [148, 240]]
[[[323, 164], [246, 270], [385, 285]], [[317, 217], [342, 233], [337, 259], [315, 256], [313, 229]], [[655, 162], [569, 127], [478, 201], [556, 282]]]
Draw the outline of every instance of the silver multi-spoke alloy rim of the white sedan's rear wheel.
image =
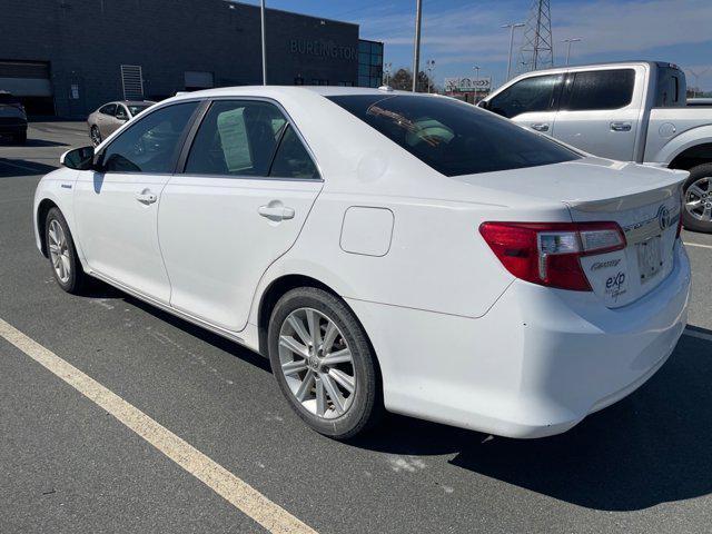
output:
[[325, 419], [350, 408], [356, 392], [352, 352], [338, 326], [313, 308], [298, 308], [279, 330], [279, 363], [296, 399]]

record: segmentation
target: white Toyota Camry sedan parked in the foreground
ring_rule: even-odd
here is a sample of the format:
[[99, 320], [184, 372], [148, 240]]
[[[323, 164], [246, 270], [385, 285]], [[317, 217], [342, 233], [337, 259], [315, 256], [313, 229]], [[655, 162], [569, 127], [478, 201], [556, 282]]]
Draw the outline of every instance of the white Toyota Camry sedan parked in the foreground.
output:
[[686, 172], [446, 97], [211, 89], [62, 164], [34, 198], [57, 283], [99, 278], [267, 356], [335, 438], [384, 411], [562, 433], [650, 378], [685, 327]]

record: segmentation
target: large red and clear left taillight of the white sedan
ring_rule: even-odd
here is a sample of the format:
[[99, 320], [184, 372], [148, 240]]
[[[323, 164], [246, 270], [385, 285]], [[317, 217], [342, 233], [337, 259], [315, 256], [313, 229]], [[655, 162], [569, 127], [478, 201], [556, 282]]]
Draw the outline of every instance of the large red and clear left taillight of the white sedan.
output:
[[625, 248], [617, 222], [483, 222], [479, 234], [517, 278], [576, 291], [592, 290], [581, 257]]

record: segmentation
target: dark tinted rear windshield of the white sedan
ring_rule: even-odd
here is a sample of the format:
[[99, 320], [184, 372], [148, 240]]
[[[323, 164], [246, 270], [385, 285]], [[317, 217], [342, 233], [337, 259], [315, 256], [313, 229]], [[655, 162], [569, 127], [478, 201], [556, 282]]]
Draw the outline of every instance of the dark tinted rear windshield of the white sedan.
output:
[[580, 158], [555, 141], [455, 99], [408, 95], [328, 98], [445, 176]]

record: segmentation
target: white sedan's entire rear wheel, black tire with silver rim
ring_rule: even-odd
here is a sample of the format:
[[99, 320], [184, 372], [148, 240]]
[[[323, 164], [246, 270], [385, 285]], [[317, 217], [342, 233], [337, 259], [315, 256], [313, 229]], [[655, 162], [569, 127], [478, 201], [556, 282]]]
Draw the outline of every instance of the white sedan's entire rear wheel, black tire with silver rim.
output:
[[[312, 320], [307, 314], [312, 314]], [[294, 319], [299, 320], [301, 330], [293, 327]], [[291, 340], [303, 340], [298, 332], [323, 344], [317, 347], [312, 343], [310, 348], [301, 344], [307, 353], [294, 352], [283, 342], [291, 336]], [[318, 337], [313, 332], [318, 332]], [[334, 439], [348, 439], [378, 422], [383, 395], [376, 356], [364, 328], [342, 299], [314, 287], [287, 291], [271, 313], [267, 339], [277, 384], [309, 427]], [[350, 362], [343, 362], [346, 354]], [[339, 358], [342, 362], [337, 362]], [[300, 363], [304, 369], [296, 370]]]

